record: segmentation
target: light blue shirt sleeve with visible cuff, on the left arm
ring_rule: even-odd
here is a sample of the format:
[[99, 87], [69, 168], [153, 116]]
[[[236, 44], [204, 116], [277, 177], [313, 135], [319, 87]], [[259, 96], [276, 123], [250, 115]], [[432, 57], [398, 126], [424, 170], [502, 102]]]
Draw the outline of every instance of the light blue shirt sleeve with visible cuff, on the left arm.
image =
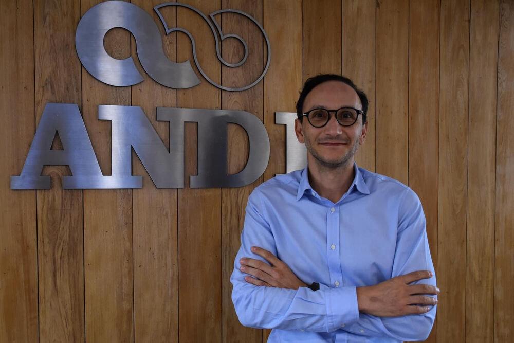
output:
[[254, 190], [248, 199], [241, 248], [234, 261], [230, 281], [232, 302], [240, 322], [261, 329], [332, 332], [359, 319], [356, 287], [329, 288], [320, 285], [318, 291], [307, 287], [298, 290], [255, 286], [245, 281], [240, 271], [240, 259], [263, 260], [250, 248], [260, 246], [277, 256], [277, 247], [269, 224], [262, 215], [260, 196]]

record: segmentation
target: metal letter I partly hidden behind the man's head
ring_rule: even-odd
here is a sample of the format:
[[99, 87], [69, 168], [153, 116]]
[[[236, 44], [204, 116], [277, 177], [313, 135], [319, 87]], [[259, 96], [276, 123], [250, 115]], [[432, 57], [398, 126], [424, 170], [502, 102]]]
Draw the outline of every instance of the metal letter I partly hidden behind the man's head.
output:
[[275, 112], [275, 123], [286, 125], [286, 173], [307, 166], [307, 149], [295, 133], [296, 112]]

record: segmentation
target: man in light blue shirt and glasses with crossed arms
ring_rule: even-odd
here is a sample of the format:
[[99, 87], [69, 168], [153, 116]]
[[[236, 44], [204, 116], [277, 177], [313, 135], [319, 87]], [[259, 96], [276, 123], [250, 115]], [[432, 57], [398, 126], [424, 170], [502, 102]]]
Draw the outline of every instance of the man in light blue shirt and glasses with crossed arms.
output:
[[368, 99], [350, 79], [305, 83], [295, 131], [307, 168], [251, 193], [231, 276], [245, 326], [268, 342], [424, 340], [435, 273], [416, 194], [358, 168]]

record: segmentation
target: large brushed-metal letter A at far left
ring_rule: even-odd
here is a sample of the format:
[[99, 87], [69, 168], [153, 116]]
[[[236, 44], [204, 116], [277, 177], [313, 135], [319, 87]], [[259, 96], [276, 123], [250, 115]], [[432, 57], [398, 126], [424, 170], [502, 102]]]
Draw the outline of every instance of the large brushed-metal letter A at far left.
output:
[[[51, 150], [56, 131], [63, 150]], [[11, 176], [11, 189], [50, 189], [50, 176], [41, 175], [44, 165], [69, 166], [73, 176], [63, 176], [63, 188], [96, 188], [88, 186], [102, 178], [76, 104], [46, 104], [22, 173]]]

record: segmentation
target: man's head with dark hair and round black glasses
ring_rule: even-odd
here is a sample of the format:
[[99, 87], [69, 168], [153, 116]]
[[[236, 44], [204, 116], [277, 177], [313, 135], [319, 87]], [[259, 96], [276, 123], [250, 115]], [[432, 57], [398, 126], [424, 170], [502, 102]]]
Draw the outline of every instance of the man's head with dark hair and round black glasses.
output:
[[[303, 118], [305, 113], [316, 109], [329, 111], [326, 124], [311, 118], [316, 111]], [[336, 114], [337, 110], [340, 111]], [[318, 163], [326, 168], [353, 164], [355, 152], [366, 136], [367, 110], [368, 98], [352, 80], [333, 74], [308, 79], [297, 102], [295, 131], [298, 140], [305, 143], [309, 163]], [[355, 116], [354, 123], [348, 120], [352, 116]]]

